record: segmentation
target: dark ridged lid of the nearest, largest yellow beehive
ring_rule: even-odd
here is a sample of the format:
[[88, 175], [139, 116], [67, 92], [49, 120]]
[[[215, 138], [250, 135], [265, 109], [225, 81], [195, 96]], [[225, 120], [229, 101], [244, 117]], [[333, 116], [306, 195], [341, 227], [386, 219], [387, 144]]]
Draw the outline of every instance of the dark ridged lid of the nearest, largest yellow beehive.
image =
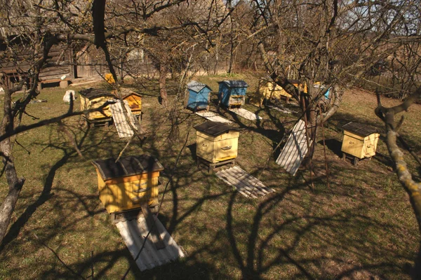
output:
[[145, 174], [163, 170], [161, 163], [150, 155], [131, 155], [107, 160], [95, 160], [92, 164], [98, 169], [103, 180]]

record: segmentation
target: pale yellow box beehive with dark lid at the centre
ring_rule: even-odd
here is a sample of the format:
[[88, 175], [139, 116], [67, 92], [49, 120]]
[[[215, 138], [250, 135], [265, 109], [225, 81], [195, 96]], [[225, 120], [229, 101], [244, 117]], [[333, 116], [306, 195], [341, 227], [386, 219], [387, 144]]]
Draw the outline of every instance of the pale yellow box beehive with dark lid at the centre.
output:
[[194, 127], [196, 156], [211, 163], [236, 158], [239, 149], [239, 128], [208, 121]]

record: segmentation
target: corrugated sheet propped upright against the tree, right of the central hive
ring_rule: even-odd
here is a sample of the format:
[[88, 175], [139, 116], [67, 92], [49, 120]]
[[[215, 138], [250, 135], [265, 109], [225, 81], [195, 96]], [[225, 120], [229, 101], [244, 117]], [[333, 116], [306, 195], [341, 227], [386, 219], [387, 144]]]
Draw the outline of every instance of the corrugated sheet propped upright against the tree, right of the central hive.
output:
[[[312, 141], [309, 142], [309, 145], [312, 145]], [[294, 176], [302, 160], [304, 160], [307, 150], [305, 123], [299, 120], [293, 128], [293, 132], [288, 137], [276, 163], [286, 169], [286, 172]]]

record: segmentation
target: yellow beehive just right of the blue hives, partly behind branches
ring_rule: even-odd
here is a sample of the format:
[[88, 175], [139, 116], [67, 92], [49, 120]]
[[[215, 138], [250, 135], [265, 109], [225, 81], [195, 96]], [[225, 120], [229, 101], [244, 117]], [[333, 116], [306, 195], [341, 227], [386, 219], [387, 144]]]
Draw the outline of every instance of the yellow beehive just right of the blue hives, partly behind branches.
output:
[[286, 97], [286, 103], [291, 97], [291, 94], [283, 90], [280, 85], [277, 85], [271, 80], [260, 79], [258, 89], [253, 97], [250, 97], [250, 104], [261, 107], [263, 100], [267, 99], [281, 99]]

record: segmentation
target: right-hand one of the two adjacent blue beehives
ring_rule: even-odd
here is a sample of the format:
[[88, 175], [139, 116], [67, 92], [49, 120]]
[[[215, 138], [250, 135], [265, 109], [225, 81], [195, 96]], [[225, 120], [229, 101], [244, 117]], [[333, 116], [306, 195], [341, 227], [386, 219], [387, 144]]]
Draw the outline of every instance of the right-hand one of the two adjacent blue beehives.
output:
[[243, 80], [222, 80], [220, 85], [218, 99], [220, 103], [227, 107], [241, 106], [246, 101], [247, 83]]

